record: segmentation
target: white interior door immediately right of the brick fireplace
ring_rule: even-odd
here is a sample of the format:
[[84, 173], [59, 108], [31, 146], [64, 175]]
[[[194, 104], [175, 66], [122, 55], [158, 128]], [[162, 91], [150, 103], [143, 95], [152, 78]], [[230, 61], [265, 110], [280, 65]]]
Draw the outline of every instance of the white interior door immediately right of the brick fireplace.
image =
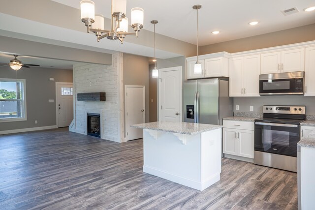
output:
[[132, 124], [145, 123], [145, 87], [125, 86], [126, 140], [143, 138], [140, 128], [130, 127]]

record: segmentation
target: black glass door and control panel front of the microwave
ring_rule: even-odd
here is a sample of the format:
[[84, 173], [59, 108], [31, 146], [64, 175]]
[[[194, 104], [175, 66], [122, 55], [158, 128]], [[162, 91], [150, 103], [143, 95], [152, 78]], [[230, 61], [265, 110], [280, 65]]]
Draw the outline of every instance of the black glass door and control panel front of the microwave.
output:
[[260, 95], [303, 95], [303, 78], [259, 80]]

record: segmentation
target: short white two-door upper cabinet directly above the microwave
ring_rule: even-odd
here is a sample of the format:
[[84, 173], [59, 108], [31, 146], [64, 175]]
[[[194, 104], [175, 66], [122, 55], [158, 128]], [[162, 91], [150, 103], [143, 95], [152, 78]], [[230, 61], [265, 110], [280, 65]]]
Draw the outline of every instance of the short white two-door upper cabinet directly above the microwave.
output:
[[304, 48], [260, 55], [260, 74], [304, 71]]

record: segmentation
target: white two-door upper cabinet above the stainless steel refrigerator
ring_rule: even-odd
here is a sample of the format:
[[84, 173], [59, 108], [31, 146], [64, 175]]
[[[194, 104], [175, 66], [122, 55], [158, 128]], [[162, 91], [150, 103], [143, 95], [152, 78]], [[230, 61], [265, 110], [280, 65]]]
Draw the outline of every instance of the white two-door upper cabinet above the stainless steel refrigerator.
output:
[[187, 60], [187, 79], [210, 78], [210, 77], [228, 77], [228, 58], [226, 52], [207, 54], [199, 56], [199, 62], [202, 65], [202, 73], [194, 74], [194, 64], [197, 57], [189, 57]]

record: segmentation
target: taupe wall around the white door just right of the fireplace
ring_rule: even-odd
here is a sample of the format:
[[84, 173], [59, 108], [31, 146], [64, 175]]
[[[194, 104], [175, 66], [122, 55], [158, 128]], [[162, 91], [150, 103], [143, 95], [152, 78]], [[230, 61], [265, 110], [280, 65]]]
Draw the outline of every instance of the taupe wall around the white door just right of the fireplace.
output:
[[[145, 86], [146, 122], [149, 122], [149, 61], [143, 56], [124, 53], [124, 96], [125, 85]], [[125, 97], [124, 97], [125, 100]], [[124, 107], [125, 110], [125, 107]], [[125, 114], [125, 111], [124, 111]], [[125, 124], [125, 123], [124, 123]], [[125, 127], [126, 130], [126, 127]]]

